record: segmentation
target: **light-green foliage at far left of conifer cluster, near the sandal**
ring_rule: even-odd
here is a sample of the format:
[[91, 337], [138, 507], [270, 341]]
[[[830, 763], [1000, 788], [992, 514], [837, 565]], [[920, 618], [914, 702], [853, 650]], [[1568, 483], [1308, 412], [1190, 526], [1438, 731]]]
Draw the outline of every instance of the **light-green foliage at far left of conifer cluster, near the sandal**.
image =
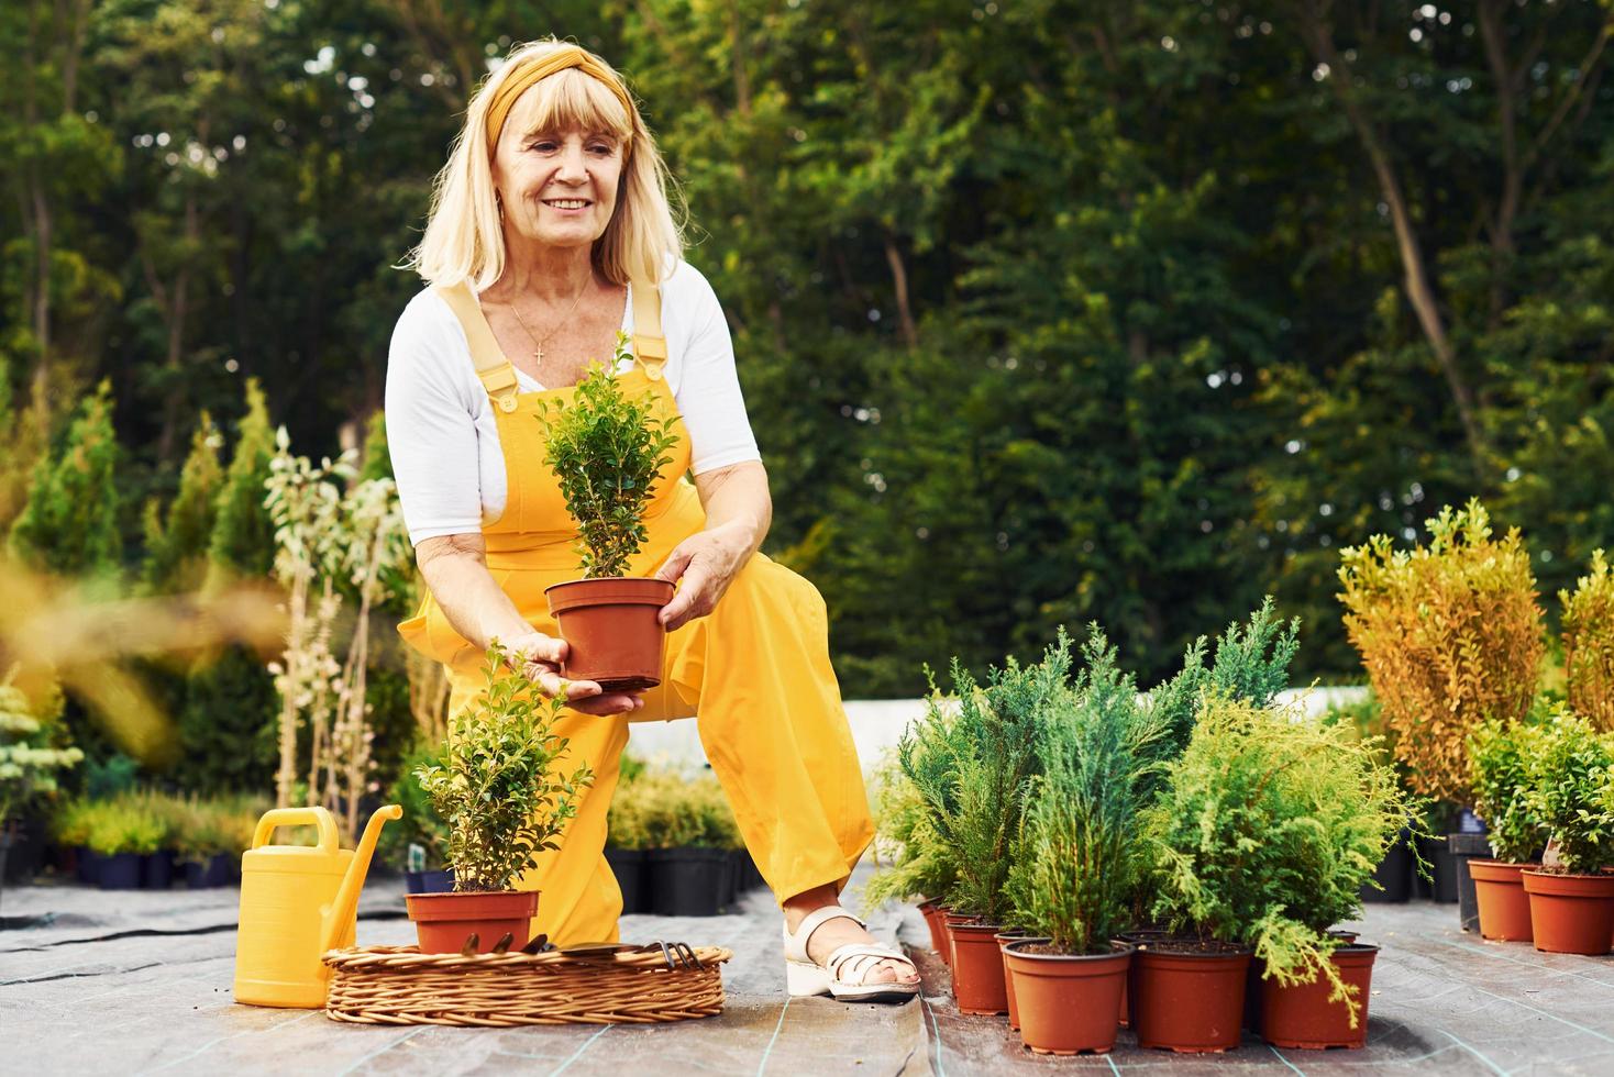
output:
[[938, 898], [959, 880], [952, 848], [941, 840], [918, 787], [888, 750], [873, 780], [875, 861], [880, 869], [863, 887], [868, 909], [886, 901]]

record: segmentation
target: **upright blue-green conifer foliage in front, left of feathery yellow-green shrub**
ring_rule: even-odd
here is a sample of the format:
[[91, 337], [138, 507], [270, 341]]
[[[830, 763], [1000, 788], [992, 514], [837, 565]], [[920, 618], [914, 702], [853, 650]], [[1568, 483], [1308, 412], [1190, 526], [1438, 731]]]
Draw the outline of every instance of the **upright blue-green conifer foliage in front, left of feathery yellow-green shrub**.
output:
[[1014, 922], [1067, 954], [1104, 953], [1130, 925], [1144, 867], [1144, 779], [1167, 734], [1098, 629], [1083, 656], [1077, 684], [1038, 730], [1043, 771], [1030, 782], [1007, 882]]

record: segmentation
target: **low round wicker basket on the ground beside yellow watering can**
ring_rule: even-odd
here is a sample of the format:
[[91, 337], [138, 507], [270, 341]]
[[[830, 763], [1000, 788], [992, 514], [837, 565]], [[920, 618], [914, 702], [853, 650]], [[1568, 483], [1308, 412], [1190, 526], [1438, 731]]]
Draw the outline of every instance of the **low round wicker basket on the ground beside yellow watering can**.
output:
[[654, 1024], [723, 1009], [728, 950], [694, 951], [699, 969], [668, 969], [662, 953], [565, 956], [447, 954], [415, 946], [331, 950], [324, 1013], [387, 1025]]

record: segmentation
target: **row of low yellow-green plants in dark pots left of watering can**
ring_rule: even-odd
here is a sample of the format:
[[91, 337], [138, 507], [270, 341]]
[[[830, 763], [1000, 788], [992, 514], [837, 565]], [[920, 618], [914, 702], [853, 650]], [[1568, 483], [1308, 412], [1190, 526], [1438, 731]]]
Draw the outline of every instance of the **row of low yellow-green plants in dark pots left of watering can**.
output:
[[103, 890], [224, 887], [266, 803], [252, 796], [174, 796], [155, 790], [71, 800], [52, 819], [63, 867]]

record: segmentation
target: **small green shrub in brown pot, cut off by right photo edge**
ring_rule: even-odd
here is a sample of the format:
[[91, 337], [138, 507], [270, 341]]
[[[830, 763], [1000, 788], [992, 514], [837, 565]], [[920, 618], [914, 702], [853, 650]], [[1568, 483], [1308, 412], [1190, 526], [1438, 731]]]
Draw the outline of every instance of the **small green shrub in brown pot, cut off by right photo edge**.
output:
[[1603, 954], [1614, 935], [1614, 735], [1559, 708], [1530, 756], [1528, 805], [1549, 835], [1524, 871], [1535, 948]]

